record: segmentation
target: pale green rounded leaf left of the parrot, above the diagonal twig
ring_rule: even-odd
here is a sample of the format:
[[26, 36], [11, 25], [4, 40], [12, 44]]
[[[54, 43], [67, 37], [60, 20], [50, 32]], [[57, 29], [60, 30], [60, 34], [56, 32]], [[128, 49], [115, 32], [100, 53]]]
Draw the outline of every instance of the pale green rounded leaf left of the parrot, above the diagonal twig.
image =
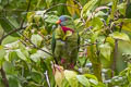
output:
[[40, 46], [41, 41], [43, 41], [43, 37], [38, 34], [34, 34], [34, 35], [32, 35], [31, 40], [34, 45]]

